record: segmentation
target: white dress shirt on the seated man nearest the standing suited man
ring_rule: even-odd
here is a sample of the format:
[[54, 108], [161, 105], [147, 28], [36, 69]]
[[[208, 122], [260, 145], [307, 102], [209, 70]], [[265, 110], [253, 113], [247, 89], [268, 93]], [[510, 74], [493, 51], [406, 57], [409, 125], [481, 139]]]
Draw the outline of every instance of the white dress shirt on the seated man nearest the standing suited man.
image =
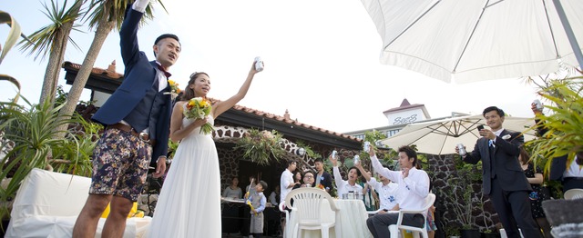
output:
[[402, 172], [396, 172], [383, 167], [376, 156], [371, 157], [376, 173], [398, 184], [397, 197], [401, 210], [419, 210], [424, 205], [425, 197], [429, 194], [429, 176], [423, 170], [411, 168], [409, 175], [404, 178]]

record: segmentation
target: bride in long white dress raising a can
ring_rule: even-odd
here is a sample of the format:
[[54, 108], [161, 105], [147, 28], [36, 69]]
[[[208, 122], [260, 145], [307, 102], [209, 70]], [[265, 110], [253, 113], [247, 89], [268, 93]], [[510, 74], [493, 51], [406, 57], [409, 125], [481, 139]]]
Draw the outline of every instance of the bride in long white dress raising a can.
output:
[[206, 73], [190, 75], [181, 101], [172, 109], [170, 139], [180, 141], [154, 212], [148, 237], [220, 237], [220, 171], [212, 134], [200, 134], [202, 124], [239, 103], [258, 71], [253, 66], [239, 92], [212, 105], [205, 119], [191, 120], [182, 114], [185, 103], [210, 91]]

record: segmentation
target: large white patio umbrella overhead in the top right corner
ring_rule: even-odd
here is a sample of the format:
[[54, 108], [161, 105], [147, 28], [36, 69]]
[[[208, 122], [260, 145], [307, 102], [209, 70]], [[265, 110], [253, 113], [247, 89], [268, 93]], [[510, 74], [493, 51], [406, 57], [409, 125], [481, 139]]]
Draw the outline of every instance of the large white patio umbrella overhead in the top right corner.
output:
[[445, 82], [549, 74], [559, 60], [583, 64], [581, 0], [361, 1], [383, 39], [382, 64]]

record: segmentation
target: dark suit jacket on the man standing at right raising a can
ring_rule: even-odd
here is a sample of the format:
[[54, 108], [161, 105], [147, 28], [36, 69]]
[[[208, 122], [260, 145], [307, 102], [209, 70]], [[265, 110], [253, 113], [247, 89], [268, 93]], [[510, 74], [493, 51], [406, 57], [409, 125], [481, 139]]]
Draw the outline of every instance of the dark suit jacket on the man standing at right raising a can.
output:
[[[510, 134], [510, 138], [502, 139], [506, 134]], [[470, 164], [476, 164], [482, 160], [482, 183], [484, 185], [484, 193], [490, 194], [492, 188], [491, 168], [494, 166], [496, 178], [500, 182], [500, 186], [505, 191], [521, 191], [532, 190], [528, 183], [527, 176], [518, 163], [518, 154], [520, 154], [519, 146], [524, 143], [525, 138], [520, 133], [511, 133], [509, 131], [502, 131], [500, 136], [496, 137], [496, 146], [494, 149], [493, 158], [490, 156], [492, 151], [488, 146], [486, 137], [481, 137], [477, 140], [476, 146], [472, 153], [465, 156], [464, 161]], [[496, 161], [492, 161], [492, 159]]]

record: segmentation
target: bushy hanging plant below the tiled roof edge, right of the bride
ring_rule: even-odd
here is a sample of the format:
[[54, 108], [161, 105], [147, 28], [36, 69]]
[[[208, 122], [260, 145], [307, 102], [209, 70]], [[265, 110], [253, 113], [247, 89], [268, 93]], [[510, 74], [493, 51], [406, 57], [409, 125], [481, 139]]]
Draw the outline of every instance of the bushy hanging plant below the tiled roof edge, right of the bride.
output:
[[279, 160], [285, 150], [281, 147], [282, 135], [277, 131], [251, 129], [237, 142], [235, 149], [243, 150], [243, 157], [257, 164], [269, 164], [270, 158]]

